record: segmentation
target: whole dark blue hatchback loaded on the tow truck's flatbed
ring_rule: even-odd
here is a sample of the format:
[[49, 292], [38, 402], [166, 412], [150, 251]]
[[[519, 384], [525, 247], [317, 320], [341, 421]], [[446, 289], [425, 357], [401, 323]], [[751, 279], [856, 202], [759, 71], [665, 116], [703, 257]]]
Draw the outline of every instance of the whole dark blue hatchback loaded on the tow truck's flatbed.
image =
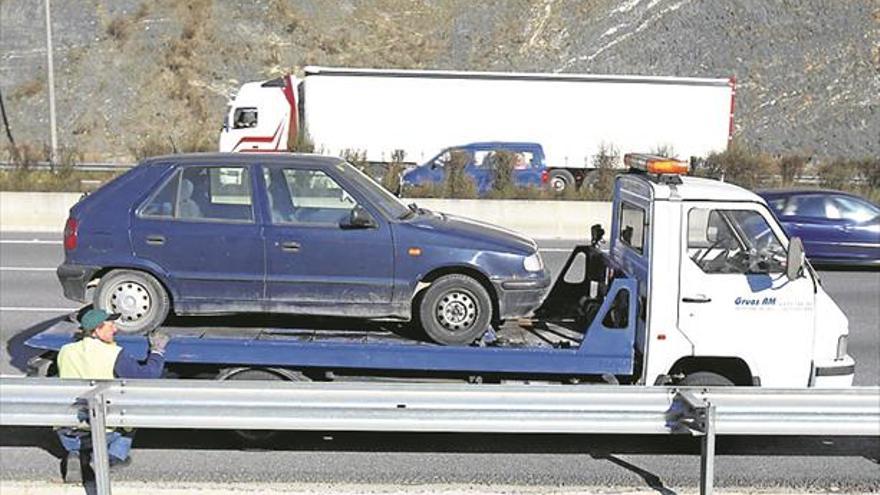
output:
[[296, 313], [415, 319], [465, 344], [550, 285], [534, 241], [406, 206], [315, 155], [148, 159], [71, 208], [64, 247], [65, 296], [129, 333], [169, 311]]

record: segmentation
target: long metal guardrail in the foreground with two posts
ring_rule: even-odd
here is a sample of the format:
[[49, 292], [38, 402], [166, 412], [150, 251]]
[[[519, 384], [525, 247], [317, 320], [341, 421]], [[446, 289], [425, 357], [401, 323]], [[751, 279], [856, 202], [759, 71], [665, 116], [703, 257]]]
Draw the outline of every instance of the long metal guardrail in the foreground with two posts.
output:
[[[0, 425], [468, 433], [880, 436], [880, 387], [760, 389], [425, 383], [89, 382], [0, 377]], [[104, 429], [92, 428], [93, 436]], [[106, 444], [93, 438], [109, 493]], [[104, 490], [104, 491], [101, 491]]]

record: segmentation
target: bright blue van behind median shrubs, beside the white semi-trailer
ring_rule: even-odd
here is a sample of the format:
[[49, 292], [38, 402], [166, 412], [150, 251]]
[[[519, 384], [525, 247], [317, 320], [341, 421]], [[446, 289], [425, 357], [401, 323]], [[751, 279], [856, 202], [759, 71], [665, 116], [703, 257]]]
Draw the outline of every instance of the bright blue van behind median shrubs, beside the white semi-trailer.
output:
[[520, 187], [549, 187], [562, 192], [578, 187], [587, 172], [585, 169], [548, 167], [544, 148], [538, 143], [488, 141], [446, 148], [424, 164], [408, 170], [401, 177], [401, 192], [406, 194], [407, 189], [415, 186], [443, 182], [452, 154], [460, 152], [467, 158], [465, 172], [473, 178], [477, 192], [485, 194], [492, 188], [493, 168], [498, 152], [502, 151], [515, 156], [513, 181]]

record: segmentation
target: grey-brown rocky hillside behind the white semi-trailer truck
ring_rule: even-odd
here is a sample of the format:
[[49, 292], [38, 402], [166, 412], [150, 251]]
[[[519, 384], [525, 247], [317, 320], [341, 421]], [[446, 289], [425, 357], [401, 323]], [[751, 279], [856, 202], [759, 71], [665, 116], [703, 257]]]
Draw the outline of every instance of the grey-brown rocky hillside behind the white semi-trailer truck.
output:
[[[736, 76], [757, 149], [880, 154], [878, 0], [64, 0], [59, 140], [128, 159], [214, 149], [243, 81], [309, 65]], [[43, 2], [0, 0], [16, 141], [48, 141]], [[0, 145], [5, 145], [5, 135]]]

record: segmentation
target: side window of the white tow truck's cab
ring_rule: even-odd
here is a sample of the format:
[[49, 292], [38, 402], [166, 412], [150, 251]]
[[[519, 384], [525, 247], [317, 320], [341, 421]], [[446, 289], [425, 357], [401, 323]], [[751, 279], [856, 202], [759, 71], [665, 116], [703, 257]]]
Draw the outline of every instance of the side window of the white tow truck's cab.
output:
[[687, 255], [705, 273], [785, 271], [786, 250], [757, 211], [694, 208], [687, 233]]

